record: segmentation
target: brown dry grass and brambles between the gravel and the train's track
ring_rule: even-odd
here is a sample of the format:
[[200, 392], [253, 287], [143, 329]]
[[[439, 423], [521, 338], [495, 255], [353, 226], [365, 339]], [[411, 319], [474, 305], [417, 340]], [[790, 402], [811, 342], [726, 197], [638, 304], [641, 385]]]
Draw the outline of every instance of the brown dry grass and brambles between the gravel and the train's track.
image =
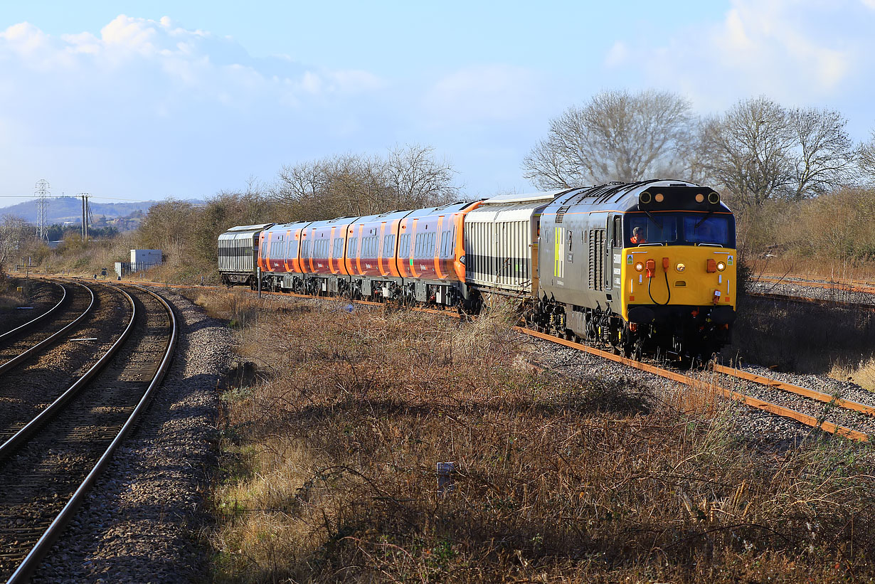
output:
[[[872, 578], [868, 450], [780, 455], [707, 390], [524, 364], [507, 314], [201, 296], [269, 381], [223, 394], [214, 581]], [[245, 316], [244, 316], [245, 315]], [[435, 465], [454, 462], [437, 491]]]

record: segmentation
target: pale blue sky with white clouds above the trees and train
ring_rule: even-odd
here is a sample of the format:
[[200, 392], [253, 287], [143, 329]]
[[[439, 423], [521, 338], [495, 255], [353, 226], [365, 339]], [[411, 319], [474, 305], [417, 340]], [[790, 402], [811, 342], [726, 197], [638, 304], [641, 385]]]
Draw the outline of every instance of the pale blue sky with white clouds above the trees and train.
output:
[[0, 9], [0, 206], [202, 198], [426, 144], [470, 196], [532, 190], [549, 118], [603, 89], [767, 95], [875, 127], [875, 0], [34, 2]]

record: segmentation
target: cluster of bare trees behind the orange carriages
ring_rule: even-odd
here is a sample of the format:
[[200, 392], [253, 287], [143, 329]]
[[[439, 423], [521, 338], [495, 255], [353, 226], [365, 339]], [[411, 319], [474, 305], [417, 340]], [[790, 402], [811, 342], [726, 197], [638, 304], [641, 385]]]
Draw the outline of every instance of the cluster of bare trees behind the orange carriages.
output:
[[455, 173], [430, 147], [414, 144], [386, 158], [344, 154], [283, 166], [272, 198], [283, 221], [373, 215], [455, 200]]

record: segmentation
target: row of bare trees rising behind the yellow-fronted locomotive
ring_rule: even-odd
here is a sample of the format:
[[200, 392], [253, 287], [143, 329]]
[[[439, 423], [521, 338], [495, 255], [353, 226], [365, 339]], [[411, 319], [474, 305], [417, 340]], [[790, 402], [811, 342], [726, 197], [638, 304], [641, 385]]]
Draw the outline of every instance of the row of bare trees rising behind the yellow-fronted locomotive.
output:
[[522, 170], [545, 189], [673, 178], [715, 186], [740, 207], [802, 201], [875, 178], [875, 132], [855, 144], [846, 126], [836, 110], [762, 96], [700, 117], [674, 93], [606, 91], [550, 120]]

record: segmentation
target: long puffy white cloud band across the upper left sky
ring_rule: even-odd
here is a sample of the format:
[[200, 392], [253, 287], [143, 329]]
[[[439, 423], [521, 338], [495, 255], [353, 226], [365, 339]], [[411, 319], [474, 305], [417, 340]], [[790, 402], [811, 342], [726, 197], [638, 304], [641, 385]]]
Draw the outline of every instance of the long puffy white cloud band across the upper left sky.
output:
[[142, 101], [165, 101], [168, 89], [186, 88], [201, 99], [222, 103], [245, 105], [270, 95], [277, 103], [289, 103], [290, 88], [302, 95], [336, 97], [383, 85], [364, 71], [307, 68], [287, 57], [254, 60], [231, 39], [180, 28], [167, 17], [120, 15], [99, 37], [82, 32], [54, 38], [28, 23], [12, 25], [0, 32], [0, 61], [4, 60], [22, 77], [28, 72], [52, 74], [79, 93], [134, 85]]

